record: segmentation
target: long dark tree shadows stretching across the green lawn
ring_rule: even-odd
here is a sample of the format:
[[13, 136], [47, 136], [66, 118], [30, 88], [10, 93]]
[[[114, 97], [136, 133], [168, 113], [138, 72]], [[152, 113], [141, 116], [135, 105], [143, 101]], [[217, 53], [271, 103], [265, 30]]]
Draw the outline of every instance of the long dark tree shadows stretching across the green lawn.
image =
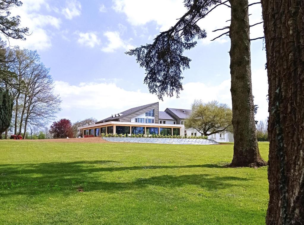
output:
[[[64, 195], [76, 194], [77, 190], [117, 192], [142, 189], [151, 185], [162, 187], [180, 187], [197, 185], [203, 189], [229, 189], [241, 186], [247, 178], [236, 176], [218, 176], [210, 174], [192, 175], [160, 175], [149, 178], [132, 179], [130, 182], [119, 182], [125, 178], [123, 173], [114, 178], [109, 172], [131, 170], [155, 170], [171, 168], [224, 168], [216, 164], [203, 165], [159, 165], [117, 167], [116, 161], [76, 161], [51, 162], [40, 164], [4, 164], [0, 165], [0, 195], [38, 195], [43, 193], [60, 192]], [[167, 173], [165, 171], [164, 173]], [[2, 175], [1, 175], [2, 174]], [[154, 172], [151, 171], [151, 175]], [[117, 176], [117, 174], [116, 174]], [[107, 180], [118, 182], [108, 182]]]

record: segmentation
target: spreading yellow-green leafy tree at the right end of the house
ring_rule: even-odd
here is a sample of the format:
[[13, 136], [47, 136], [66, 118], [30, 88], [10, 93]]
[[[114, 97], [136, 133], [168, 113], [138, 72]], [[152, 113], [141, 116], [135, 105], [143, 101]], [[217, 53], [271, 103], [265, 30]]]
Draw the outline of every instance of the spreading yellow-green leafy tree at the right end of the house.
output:
[[204, 136], [214, 133], [231, 132], [232, 110], [227, 104], [212, 101], [203, 103], [195, 100], [192, 104], [192, 114], [185, 120], [185, 128], [196, 129]]

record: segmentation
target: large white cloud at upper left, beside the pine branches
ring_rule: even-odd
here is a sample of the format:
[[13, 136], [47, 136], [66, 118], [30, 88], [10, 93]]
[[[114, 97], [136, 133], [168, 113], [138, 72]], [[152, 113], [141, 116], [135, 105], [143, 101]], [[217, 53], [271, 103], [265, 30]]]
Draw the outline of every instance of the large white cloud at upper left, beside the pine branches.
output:
[[13, 8], [12, 16], [21, 17], [21, 26], [28, 27], [30, 36], [25, 36], [26, 41], [10, 39], [11, 46], [19, 45], [32, 50], [45, 50], [52, 46], [53, 30], [59, 29], [61, 20], [50, 15], [42, 15], [39, 11], [49, 5], [47, 0], [25, 0], [21, 7]]

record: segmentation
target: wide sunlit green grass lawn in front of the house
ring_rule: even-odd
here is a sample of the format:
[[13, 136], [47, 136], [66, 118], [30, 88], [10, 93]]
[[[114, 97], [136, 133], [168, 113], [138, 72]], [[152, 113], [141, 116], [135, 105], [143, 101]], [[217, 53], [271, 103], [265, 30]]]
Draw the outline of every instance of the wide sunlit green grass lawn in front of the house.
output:
[[264, 224], [267, 168], [225, 168], [232, 155], [233, 144], [1, 140], [0, 224]]

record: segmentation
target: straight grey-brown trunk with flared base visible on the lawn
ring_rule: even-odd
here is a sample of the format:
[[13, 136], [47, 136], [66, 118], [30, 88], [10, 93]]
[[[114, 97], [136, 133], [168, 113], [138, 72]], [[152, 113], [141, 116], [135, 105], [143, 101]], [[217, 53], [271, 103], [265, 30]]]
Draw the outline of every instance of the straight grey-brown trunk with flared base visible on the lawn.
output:
[[257, 145], [254, 103], [251, 85], [251, 59], [248, 0], [230, 0], [230, 74], [232, 125], [234, 135], [231, 167], [260, 167], [262, 159]]

